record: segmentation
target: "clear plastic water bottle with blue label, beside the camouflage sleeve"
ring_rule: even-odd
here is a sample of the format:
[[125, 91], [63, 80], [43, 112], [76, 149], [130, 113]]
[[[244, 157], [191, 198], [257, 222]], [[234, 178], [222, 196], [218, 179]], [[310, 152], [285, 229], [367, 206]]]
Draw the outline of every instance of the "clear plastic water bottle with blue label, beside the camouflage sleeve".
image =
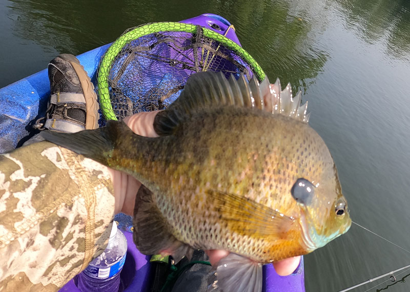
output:
[[116, 292], [120, 285], [119, 273], [127, 254], [127, 239], [112, 224], [106, 250], [93, 259], [86, 269], [78, 274], [78, 289], [81, 292]]

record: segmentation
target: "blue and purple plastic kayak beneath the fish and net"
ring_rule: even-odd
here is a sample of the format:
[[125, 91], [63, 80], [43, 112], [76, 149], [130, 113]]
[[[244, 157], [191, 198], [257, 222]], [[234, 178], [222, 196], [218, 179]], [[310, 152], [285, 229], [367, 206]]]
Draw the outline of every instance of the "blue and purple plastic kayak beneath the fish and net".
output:
[[[180, 21], [185, 24], [207, 27], [231, 39], [240, 46], [234, 30], [229, 30], [228, 20], [216, 14], [202, 14]], [[101, 57], [110, 48], [106, 44], [77, 56], [92, 82], [96, 83], [96, 73]], [[21, 146], [29, 137], [31, 124], [44, 117], [50, 84], [47, 69], [0, 88], [0, 153]], [[116, 217], [118, 221], [124, 216]], [[121, 223], [121, 222], [120, 222]], [[129, 227], [129, 226], [128, 226]], [[129, 228], [128, 228], [129, 230]], [[148, 291], [150, 285], [150, 257], [138, 252], [132, 240], [132, 232], [125, 231], [128, 251], [121, 279], [126, 284], [124, 291]], [[74, 280], [69, 281], [60, 291], [77, 292]], [[303, 257], [296, 271], [286, 277], [276, 274], [272, 265], [263, 267], [263, 292], [292, 291], [304, 292]]]

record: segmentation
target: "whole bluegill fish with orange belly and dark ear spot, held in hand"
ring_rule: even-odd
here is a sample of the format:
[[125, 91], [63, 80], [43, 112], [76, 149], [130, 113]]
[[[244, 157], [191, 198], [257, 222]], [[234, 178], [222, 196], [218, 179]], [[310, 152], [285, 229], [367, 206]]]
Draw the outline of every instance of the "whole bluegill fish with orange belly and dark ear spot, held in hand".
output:
[[135, 176], [142, 187], [134, 241], [176, 261], [193, 249], [228, 250], [217, 267], [224, 292], [262, 287], [262, 264], [303, 255], [351, 226], [332, 156], [309, 124], [300, 93], [244, 76], [192, 75], [157, 114], [159, 138], [125, 123], [66, 134], [55, 144]]

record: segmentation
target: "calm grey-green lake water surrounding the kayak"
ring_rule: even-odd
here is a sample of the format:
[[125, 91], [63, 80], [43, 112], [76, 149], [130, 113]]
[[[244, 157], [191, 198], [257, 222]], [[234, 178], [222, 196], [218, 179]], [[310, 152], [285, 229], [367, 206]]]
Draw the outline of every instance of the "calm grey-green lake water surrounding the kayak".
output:
[[[352, 218], [410, 250], [407, 0], [124, 0], [115, 6], [0, 0], [0, 86], [46, 68], [57, 53], [88, 51], [129, 27], [205, 12], [235, 25], [242, 46], [272, 80], [302, 90], [310, 123], [336, 161]], [[353, 226], [305, 260], [306, 290], [327, 292], [410, 264], [410, 255]], [[410, 284], [405, 278], [377, 288], [409, 291]]]

